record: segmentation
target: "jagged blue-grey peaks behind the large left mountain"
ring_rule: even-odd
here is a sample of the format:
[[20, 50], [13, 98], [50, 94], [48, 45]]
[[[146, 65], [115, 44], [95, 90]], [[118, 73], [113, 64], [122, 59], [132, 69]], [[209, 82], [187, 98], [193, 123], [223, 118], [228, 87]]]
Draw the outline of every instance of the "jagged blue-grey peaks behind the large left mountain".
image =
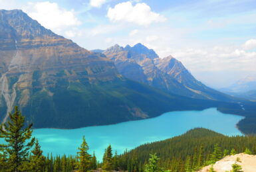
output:
[[133, 47], [116, 44], [102, 53], [114, 62], [120, 74], [134, 81], [196, 99], [232, 99], [197, 81], [188, 69], [172, 56], [159, 58], [154, 50], [140, 43]]

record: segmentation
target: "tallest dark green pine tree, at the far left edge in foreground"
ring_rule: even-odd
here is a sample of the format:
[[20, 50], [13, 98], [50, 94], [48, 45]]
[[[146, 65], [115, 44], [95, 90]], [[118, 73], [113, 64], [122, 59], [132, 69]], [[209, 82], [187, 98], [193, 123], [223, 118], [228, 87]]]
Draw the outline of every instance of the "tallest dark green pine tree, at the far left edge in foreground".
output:
[[7, 124], [0, 126], [0, 138], [4, 138], [7, 143], [1, 144], [0, 149], [4, 150], [8, 157], [8, 171], [23, 171], [29, 150], [35, 142], [35, 138], [31, 138], [32, 124], [24, 128], [25, 116], [22, 116], [18, 107], [15, 107], [13, 114], [9, 113], [9, 118]]

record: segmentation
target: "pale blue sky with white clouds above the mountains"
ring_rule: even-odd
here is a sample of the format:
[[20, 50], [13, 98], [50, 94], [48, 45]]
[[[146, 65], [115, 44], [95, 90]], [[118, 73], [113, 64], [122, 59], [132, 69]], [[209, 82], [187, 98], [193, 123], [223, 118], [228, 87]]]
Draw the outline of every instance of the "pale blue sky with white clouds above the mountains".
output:
[[206, 85], [256, 75], [255, 0], [0, 0], [87, 50], [138, 42]]

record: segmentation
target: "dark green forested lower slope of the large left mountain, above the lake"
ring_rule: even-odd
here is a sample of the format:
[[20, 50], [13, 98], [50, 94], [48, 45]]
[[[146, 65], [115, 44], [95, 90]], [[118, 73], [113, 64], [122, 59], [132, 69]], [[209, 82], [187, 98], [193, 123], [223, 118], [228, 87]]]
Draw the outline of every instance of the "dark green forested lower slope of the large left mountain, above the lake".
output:
[[36, 91], [22, 112], [35, 128], [79, 128], [225, 105], [239, 108], [231, 103], [170, 95], [135, 81], [116, 79], [94, 85], [63, 82], [48, 92]]

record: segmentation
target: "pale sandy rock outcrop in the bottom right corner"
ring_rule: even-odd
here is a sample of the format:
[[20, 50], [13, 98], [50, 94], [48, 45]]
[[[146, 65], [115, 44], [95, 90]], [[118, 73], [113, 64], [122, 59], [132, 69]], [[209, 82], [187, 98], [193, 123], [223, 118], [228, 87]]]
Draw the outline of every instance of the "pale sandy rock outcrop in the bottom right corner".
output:
[[[240, 160], [237, 161], [237, 158]], [[223, 159], [217, 161], [213, 165], [213, 169], [216, 172], [231, 171], [232, 165], [234, 163], [241, 165], [242, 171], [244, 171], [244, 172], [255, 172], [256, 171], [256, 155], [248, 155], [245, 153], [239, 153], [236, 155], [226, 156]], [[197, 172], [209, 171], [210, 167], [211, 167], [211, 165], [208, 165], [207, 167], [203, 167], [203, 169], [201, 169], [200, 171], [197, 171]]]

